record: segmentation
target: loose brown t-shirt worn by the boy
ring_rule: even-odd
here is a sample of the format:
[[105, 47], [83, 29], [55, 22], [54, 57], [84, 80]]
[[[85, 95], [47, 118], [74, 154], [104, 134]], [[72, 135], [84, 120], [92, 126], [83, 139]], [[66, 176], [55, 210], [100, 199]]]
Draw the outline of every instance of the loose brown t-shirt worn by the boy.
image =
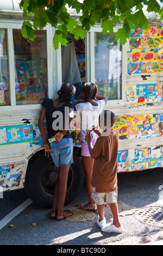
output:
[[99, 137], [92, 150], [95, 162], [91, 184], [97, 193], [117, 190], [118, 141], [118, 132], [112, 130], [109, 136]]

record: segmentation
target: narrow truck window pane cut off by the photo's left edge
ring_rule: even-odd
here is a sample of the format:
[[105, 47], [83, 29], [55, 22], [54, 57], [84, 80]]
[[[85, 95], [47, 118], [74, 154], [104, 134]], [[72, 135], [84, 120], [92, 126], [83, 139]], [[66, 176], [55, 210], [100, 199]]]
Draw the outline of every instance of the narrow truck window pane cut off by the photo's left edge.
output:
[[6, 29], [0, 29], [0, 106], [10, 105]]

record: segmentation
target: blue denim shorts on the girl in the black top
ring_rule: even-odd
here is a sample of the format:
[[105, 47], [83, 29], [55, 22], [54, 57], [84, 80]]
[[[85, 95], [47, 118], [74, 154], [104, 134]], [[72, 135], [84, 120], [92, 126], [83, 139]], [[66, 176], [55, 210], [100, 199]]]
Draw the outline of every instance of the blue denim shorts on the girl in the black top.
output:
[[66, 166], [73, 163], [73, 141], [72, 138], [62, 138], [60, 142], [51, 143], [50, 154], [56, 167]]

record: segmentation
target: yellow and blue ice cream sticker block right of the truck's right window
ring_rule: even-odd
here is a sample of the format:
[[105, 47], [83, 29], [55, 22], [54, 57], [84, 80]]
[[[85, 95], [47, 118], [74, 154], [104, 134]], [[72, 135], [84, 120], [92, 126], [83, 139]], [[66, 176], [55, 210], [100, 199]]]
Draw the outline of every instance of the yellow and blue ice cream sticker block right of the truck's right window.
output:
[[163, 26], [131, 29], [128, 75], [163, 72]]

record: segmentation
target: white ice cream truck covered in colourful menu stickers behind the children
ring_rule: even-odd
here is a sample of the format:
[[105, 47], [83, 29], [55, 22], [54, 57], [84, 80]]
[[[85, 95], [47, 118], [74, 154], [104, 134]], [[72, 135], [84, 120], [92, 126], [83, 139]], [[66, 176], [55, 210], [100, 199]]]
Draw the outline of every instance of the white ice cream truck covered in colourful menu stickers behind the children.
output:
[[[76, 16], [75, 10], [68, 10]], [[0, 4], [0, 186], [24, 188], [33, 202], [51, 206], [57, 168], [45, 156], [38, 127], [41, 102], [57, 97], [62, 84], [61, 45], [53, 48], [54, 29], [22, 37], [18, 1]], [[117, 25], [115, 32], [121, 25]], [[108, 98], [105, 109], [116, 114], [120, 135], [117, 172], [163, 167], [163, 26], [149, 19], [147, 29], [131, 29], [126, 45], [100, 24], [85, 34], [84, 50], [76, 48], [82, 82], [94, 82]], [[65, 204], [83, 186], [80, 120], [70, 125], [74, 163], [67, 179]], [[46, 123], [45, 123], [46, 130]]]

